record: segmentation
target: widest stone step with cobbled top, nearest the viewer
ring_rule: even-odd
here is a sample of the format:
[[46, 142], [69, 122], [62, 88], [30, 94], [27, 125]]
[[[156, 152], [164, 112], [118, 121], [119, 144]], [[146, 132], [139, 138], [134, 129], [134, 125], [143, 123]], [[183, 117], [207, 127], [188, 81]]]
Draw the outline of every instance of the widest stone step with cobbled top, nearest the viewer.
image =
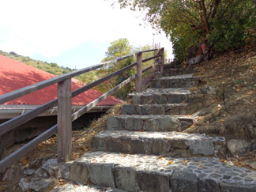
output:
[[113, 152], [86, 152], [66, 174], [82, 183], [125, 191], [247, 191], [256, 189], [256, 171], [217, 158], [171, 158]]

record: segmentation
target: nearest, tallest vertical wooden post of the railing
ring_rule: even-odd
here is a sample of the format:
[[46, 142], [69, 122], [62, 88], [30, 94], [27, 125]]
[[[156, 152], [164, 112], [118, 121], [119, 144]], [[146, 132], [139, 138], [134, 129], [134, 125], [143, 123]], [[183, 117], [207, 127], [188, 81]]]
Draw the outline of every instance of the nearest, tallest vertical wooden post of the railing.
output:
[[58, 162], [66, 162], [71, 157], [71, 78], [58, 83]]

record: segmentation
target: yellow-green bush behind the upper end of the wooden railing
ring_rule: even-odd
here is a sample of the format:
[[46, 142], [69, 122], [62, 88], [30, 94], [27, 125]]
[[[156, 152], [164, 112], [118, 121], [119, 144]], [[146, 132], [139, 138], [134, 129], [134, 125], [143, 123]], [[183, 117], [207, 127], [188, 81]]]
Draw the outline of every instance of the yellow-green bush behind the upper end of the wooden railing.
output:
[[[129, 41], [125, 38], [115, 40], [110, 44], [111, 46], [107, 48], [106, 57], [102, 60], [103, 62], [107, 62], [115, 58], [129, 55], [133, 52], [149, 50], [152, 48], [150, 46], [132, 47]], [[153, 55], [154, 55], [153, 52], [144, 53], [143, 59], [152, 57]], [[121, 70], [123, 67], [129, 66], [134, 62], [135, 62], [135, 58], [126, 58], [125, 60], [121, 62], [117, 62], [107, 68], [82, 74], [81, 76], [78, 77], [78, 79], [88, 84], [88, 83], [91, 83], [92, 81], [96, 81], [97, 79], [105, 77], [110, 73], [114, 73], [117, 70]], [[148, 66], [152, 66], [152, 64], [153, 64], [153, 61], [143, 63], [143, 69], [145, 69]], [[97, 85], [96, 89], [99, 90], [100, 92], [107, 92], [108, 90], [110, 90], [111, 88], [114, 88], [116, 85], [119, 85], [122, 81], [125, 81], [128, 77], [131, 77], [135, 73], [136, 73], [135, 67], [130, 70], [126, 70], [122, 74], [117, 75], [108, 81], [104, 81], [104, 83], [101, 83], [100, 85]], [[123, 88], [120, 88], [117, 92], [115, 92], [114, 96], [117, 96], [122, 100], [126, 100], [127, 94], [130, 92], [133, 92], [134, 87], [135, 87], [135, 83], [130, 82], [130, 84], [124, 86]]]

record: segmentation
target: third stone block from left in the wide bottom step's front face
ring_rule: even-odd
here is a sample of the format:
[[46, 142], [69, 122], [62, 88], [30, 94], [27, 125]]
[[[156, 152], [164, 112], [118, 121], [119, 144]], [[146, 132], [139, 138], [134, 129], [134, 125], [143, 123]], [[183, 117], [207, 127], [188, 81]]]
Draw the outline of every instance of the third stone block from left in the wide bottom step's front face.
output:
[[132, 168], [115, 168], [115, 184], [117, 188], [126, 191], [136, 191], [136, 171]]

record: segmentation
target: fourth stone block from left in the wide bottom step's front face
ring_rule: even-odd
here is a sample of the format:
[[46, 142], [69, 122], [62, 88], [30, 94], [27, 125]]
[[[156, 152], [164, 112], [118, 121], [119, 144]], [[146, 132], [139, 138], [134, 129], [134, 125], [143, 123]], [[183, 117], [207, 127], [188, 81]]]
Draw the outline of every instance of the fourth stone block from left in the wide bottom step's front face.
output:
[[165, 192], [170, 190], [168, 175], [138, 171], [137, 182], [140, 190]]

